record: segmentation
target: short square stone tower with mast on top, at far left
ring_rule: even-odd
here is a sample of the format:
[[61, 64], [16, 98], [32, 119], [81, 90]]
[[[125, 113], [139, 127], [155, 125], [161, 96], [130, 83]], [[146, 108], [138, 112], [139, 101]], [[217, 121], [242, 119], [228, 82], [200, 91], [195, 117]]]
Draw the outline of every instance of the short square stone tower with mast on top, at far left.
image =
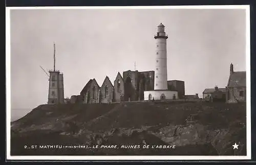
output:
[[54, 66], [53, 70], [49, 70], [49, 93], [48, 104], [64, 103], [64, 85], [63, 74], [59, 70], [55, 70], [55, 43], [54, 43]]

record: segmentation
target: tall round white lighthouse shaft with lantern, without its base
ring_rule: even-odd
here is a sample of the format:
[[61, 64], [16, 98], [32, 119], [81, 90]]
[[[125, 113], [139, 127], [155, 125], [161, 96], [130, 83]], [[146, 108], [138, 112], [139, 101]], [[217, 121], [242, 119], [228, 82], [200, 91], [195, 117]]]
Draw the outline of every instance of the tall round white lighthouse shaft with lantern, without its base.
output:
[[156, 68], [155, 68], [155, 90], [167, 90], [167, 55], [164, 25], [160, 23], [157, 27], [156, 39]]

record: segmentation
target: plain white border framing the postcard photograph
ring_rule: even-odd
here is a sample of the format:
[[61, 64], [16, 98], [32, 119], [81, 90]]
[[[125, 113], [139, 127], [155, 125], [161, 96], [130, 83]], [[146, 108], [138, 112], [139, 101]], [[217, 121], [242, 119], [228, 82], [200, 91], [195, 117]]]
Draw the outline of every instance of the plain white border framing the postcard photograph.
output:
[[[11, 49], [10, 10], [38, 9], [245, 9], [246, 10], [246, 156], [11, 156]], [[6, 7], [6, 155], [8, 160], [238, 160], [251, 159], [251, 92], [250, 92], [250, 6], [94, 6], [94, 7]]]

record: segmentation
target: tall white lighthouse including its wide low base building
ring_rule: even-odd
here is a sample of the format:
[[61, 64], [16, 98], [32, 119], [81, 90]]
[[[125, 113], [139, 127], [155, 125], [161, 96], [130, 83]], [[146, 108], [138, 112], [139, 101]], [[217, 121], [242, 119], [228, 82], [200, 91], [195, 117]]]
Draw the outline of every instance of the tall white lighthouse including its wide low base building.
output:
[[155, 80], [154, 90], [144, 91], [144, 100], [175, 100], [178, 98], [178, 91], [168, 90], [167, 86], [167, 50], [166, 40], [168, 36], [165, 34], [163, 23], [157, 26], [157, 34], [155, 52]]

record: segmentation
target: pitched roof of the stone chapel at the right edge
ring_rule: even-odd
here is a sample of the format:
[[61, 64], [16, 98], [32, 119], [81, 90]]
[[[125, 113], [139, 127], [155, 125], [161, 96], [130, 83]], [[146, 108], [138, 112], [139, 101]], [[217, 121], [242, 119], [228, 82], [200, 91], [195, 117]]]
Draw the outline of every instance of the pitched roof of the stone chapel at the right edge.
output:
[[227, 87], [246, 86], [246, 72], [233, 72], [228, 79]]

